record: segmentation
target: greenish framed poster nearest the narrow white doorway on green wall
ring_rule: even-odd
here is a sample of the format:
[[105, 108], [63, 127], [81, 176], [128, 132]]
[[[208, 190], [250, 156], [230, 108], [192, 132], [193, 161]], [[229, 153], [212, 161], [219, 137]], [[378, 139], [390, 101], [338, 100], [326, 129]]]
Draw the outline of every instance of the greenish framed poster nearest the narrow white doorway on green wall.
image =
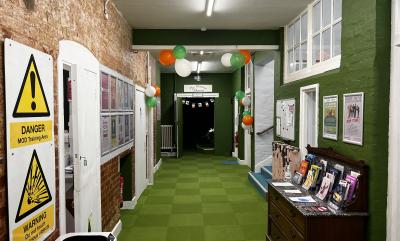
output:
[[323, 134], [326, 139], [337, 140], [338, 134], [338, 96], [323, 97]]

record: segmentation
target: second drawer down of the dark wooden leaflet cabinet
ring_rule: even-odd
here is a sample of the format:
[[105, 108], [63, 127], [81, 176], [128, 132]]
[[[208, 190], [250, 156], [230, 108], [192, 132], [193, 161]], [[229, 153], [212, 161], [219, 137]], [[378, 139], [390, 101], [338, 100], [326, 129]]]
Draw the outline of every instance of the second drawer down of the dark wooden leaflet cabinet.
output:
[[268, 209], [270, 219], [272, 219], [272, 222], [279, 227], [287, 241], [304, 241], [303, 236], [298, 232], [296, 227], [287, 220], [274, 203], [271, 203], [271, 206], [268, 207]]

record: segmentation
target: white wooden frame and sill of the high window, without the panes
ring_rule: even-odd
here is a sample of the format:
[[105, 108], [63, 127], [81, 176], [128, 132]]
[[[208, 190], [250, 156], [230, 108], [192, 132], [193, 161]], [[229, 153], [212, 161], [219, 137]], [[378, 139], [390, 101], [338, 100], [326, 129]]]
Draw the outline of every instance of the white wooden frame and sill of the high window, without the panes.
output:
[[[290, 21], [287, 25], [284, 27], [284, 78], [283, 78], [283, 84], [287, 84], [296, 80], [308, 78], [314, 75], [322, 74], [324, 72], [338, 69], [341, 66], [341, 56], [342, 56], [342, 50], [341, 53], [335, 57], [332, 57], [333, 54], [333, 26], [336, 24], [343, 23], [343, 11], [342, 11], [342, 16], [336, 20], [333, 20], [333, 12], [334, 12], [334, 0], [331, 0], [331, 23], [328, 24], [325, 27], [322, 27], [322, 1], [323, 0], [315, 0], [312, 3], [308, 4], [306, 9], [302, 11], [299, 15], [297, 15], [292, 21]], [[316, 33], [313, 33], [313, 7], [321, 3], [321, 27]], [[343, 10], [343, 2], [342, 2], [342, 10]], [[288, 31], [289, 31], [289, 26], [294, 24], [297, 20], [301, 19], [301, 17], [307, 14], [307, 65], [305, 68], [300, 69], [298, 71], [295, 71], [293, 73], [289, 73], [289, 63], [288, 63], [288, 57], [289, 57], [289, 46], [288, 46]], [[301, 25], [301, 21], [300, 21]], [[312, 63], [312, 58], [313, 58], [313, 37], [317, 36], [318, 34], [320, 35], [320, 48], [321, 48], [321, 43], [322, 43], [322, 33], [326, 29], [331, 29], [331, 36], [330, 36], [330, 58], [324, 61], [321, 61], [319, 63], [313, 64]], [[342, 26], [343, 28], [343, 26]], [[341, 28], [341, 32], [342, 31]], [[301, 28], [300, 28], [300, 34], [301, 34]], [[301, 43], [299, 44], [301, 46]], [[294, 55], [294, 53], [293, 53]], [[301, 49], [300, 49], [300, 55], [301, 55]], [[320, 56], [321, 56], [321, 51], [320, 51]], [[294, 57], [293, 57], [294, 58]], [[301, 59], [301, 58], [300, 58]]]

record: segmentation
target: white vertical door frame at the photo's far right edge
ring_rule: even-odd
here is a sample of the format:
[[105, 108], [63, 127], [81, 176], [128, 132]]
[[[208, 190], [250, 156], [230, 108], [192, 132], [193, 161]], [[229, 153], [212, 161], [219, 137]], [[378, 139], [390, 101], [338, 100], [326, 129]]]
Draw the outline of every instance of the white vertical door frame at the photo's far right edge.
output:
[[400, 238], [400, 1], [392, 1], [392, 43], [390, 69], [389, 104], [389, 159], [388, 159], [388, 201], [386, 215], [386, 240]]

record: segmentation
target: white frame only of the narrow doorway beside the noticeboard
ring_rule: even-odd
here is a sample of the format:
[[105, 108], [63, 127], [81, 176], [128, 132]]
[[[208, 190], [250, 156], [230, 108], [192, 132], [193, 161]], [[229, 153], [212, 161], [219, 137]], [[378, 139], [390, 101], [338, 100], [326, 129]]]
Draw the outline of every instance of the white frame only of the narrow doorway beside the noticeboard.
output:
[[307, 131], [307, 123], [308, 115], [307, 115], [307, 93], [315, 91], [315, 129], [314, 129], [314, 137], [316, 143], [314, 143], [314, 147], [318, 147], [318, 131], [319, 131], [319, 84], [307, 85], [300, 88], [300, 125], [299, 125], [299, 148], [301, 151], [302, 159], [304, 159], [307, 149], [307, 135], [305, 132]]

